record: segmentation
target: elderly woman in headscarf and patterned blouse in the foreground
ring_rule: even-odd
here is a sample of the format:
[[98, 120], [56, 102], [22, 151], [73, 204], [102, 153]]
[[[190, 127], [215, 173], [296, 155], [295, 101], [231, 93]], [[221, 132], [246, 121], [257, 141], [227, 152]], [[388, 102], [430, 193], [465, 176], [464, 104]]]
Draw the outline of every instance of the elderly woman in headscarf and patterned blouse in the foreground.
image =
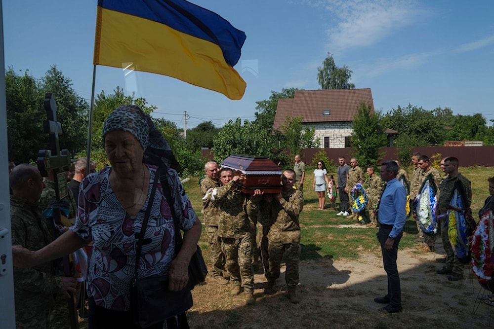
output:
[[[89, 328], [139, 328], [131, 325], [130, 288], [145, 210], [152, 207], [137, 276], [168, 275], [172, 291], [183, 289], [188, 282], [187, 268], [201, 235], [201, 222], [173, 169], [167, 169], [173, 204], [166, 201], [160, 181], [150, 200], [152, 184], [159, 179], [155, 176], [157, 166], [173, 166], [175, 159], [151, 118], [140, 108], [121, 106], [114, 110], [103, 125], [103, 145], [111, 166], [82, 181], [75, 225], [39, 251], [14, 247], [14, 264], [33, 266], [94, 241], [87, 275]], [[172, 211], [185, 232], [176, 256]], [[164, 328], [164, 324], [151, 328]], [[188, 328], [185, 313], [165, 321], [165, 328]]]

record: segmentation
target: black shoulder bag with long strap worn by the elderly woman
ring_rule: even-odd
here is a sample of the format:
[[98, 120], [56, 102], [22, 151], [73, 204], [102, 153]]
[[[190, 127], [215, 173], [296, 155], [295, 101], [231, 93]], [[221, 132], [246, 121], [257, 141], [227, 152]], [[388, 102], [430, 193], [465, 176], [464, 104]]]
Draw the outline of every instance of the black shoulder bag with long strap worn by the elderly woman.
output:
[[[163, 322], [166, 319], [177, 314], [181, 314], [192, 307], [192, 294], [190, 293], [192, 287], [190, 280], [184, 289], [178, 292], [173, 292], [168, 290], [167, 277], [165, 278], [164, 276], [159, 276], [142, 279], [137, 278], [137, 268], [139, 265], [139, 258], [141, 256], [142, 242], [151, 213], [151, 208], [153, 206], [160, 171], [160, 168], [156, 171], [148, 207], [146, 209], [141, 231], [139, 233], [139, 240], [137, 242], [135, 255], [134, 279], [132, 281], [130, 292], [131, 311], [133, 313], [134, 323], [138, 324], [141, 328], [147, 328], [156, 323]], [[166, 185], [166, 187], [167, 186], [168, 185]], [[166, 187], [163, 188], [164, 191]], [[169, 190], [167, 193], [169, 194]], [[169, 203], [169, 205], [173, 214], [173, 204]], [[173, 218], [175, 218], [175, 216], [173, 216]], [[177, 235], [176, 233], [177, 232], [175, 232], [175, 236]], [[178, 232], [178, 235], [180, 235], [180, 232]]]

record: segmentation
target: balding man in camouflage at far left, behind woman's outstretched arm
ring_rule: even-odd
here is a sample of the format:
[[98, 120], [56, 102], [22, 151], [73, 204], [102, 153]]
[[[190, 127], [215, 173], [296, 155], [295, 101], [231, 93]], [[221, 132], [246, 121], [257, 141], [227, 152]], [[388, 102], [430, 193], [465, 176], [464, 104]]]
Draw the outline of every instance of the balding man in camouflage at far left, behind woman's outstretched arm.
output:
[[[44, 184], [40, 172], [29, 164], [18, 165], [9, 175], [12, 245], [39, 250], [53, 241], [38, 200]], [[75, 292], [76, 279], [54, 275], [51, 262], [33, 268], [14, 267], [17, 329], [48, 328], [53, 295]]]

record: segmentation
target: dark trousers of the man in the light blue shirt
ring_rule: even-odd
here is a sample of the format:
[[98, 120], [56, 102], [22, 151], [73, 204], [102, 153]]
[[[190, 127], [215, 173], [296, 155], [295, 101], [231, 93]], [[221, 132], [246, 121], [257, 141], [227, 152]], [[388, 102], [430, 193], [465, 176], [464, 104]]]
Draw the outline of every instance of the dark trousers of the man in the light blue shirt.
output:
[[398, 267], [396, 266], [396, 259], [398, 258], [398, 244], [400, 243], [403, 233], [398, 234], [393, 243], [393, 249], [391, 251], [386, 251], [384, 249], [384, 243], [389, 237], [391, 229], [379, 227], [377, 232], [377, 240], [381, 244], [382, 252], [382, 264], [384, 265], [384, 270], [388, 275], [388, 298], [389, 303], [393, 307], [401, 307], [401, 287], [400, 287], [400, 276], [398, 275]]

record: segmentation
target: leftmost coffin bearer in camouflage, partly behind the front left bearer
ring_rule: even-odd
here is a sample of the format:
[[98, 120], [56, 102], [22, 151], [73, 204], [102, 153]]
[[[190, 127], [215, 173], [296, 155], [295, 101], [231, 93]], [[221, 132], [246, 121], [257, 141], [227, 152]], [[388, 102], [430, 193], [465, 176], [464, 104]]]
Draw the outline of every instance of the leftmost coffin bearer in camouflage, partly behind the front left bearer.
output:
[[[216, 161], [209, 161], [204, 166], [206, 177], [201, 181], [201, 193], [206, 195], [210, 188], [218, 188], [221, 182], [218, 180], [218, 164]], [[220, 210], [212, 203], [210, 198], [203, 199], [204, 223], [206, 226], [207, 241], [209, 242], [210, 264], [212, 264], [211, 275], [217, 283], [228, 284], [228, 280], [223, 278], [225, 269], [225, 255], [221, 251], [221, 238], [218, 236], [218, 225]]]

